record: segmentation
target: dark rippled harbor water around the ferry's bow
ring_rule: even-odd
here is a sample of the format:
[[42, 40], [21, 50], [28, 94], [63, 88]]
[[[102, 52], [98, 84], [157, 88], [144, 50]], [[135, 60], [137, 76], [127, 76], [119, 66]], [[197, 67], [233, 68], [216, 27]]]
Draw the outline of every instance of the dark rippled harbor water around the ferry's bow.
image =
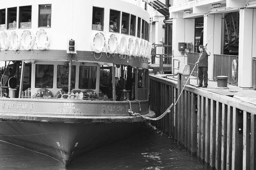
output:
[[[63, 165], [48, 156], [0, 142], [0, 170], [63, 170]], [[101, 147], [75, 159], [70, 170], [106, 169], [206, 169], [163, 132], [150, 124], [132, 136]]]

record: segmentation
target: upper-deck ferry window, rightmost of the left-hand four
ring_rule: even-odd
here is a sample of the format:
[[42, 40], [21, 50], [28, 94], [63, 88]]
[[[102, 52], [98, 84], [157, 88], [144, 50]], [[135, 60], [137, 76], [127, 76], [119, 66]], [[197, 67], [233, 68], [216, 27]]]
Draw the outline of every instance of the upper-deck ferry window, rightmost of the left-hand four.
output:
[[51, 27], [52, 5], [39, 5], [38, 27]]

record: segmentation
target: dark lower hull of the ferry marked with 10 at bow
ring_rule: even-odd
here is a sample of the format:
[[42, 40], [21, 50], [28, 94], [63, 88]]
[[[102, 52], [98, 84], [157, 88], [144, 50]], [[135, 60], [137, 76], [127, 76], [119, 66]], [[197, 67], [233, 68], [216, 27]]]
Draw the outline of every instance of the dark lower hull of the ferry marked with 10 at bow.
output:
[[0, 122], [0, 140], [45, 154], [68, 167], [76, 157], [127, 137], [142, 124]]

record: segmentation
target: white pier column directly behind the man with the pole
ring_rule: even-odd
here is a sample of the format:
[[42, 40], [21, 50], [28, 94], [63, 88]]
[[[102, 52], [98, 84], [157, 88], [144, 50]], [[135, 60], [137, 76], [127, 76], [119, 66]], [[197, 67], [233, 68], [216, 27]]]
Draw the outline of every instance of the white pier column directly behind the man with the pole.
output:
[[208, 56], [208, 78], [212, 78], [213, 54], [221, 54], [221, 14], [204, 15], [204, 45], [210, 39], [207, 49], [211, 52]]

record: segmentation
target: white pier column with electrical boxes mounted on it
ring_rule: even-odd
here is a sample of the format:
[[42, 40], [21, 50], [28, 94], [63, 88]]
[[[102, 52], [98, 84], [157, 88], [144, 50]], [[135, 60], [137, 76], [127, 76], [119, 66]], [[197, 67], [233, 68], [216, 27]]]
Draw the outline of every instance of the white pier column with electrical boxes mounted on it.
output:
[[[180, 60], [181, 63], [187, 63], [185, 50], [178, 50], [178, 42], [193, 42], [192, 48], [188, 52], [194, 52], [195, 39], [195, 19], [194, 18], [173, 18], [172, 20], [172, 59]], [[173, 64], [173, 63], [172, 63]], [[178, 63], [175, 62], [177, 66]], [[173, 66], [173, 65], [172, 65]], [[174, 70], [175, 73], [177, 70]]]

